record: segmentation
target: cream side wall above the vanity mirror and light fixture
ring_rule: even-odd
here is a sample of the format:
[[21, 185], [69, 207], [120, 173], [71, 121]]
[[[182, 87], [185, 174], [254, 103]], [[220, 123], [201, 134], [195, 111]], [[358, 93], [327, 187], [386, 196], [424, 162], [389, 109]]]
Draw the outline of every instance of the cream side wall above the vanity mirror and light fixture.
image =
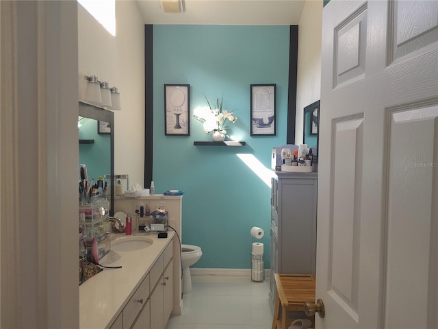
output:
[[144, 183], [144, 23], [134, 1], [116, 1], [116, 36], [81, 5], [79, 23], [79, 99], [84, 75], [118, 87], [122, 110], [114, 111], [114, 173]]

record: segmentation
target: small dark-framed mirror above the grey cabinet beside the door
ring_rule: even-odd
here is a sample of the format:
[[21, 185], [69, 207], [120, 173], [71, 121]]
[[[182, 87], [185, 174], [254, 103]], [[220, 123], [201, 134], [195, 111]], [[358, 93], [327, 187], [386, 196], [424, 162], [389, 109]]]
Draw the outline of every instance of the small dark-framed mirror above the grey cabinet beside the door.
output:
[[315, 101], [304, 108], [304, 126], [302, 143], [307, 144], [313, 152], [313, 162], [318, 162], [320, 101]]

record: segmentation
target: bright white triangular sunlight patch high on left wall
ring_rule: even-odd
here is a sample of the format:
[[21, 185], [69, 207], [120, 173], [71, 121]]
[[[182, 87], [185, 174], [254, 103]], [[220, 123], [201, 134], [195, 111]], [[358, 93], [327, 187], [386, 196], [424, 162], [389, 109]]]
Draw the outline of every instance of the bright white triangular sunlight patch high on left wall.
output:
[[116, 36], [116, 0], [77, 0], [93, 17]]

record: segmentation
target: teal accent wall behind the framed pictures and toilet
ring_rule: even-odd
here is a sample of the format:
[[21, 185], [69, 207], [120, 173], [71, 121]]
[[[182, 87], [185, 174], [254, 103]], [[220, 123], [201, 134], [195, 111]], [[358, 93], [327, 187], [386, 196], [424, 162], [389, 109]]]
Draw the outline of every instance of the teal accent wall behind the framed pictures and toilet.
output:
[[[272, 147], [286, 144], [288, 70], [289, 26], [153, 26], [153, 180], [156, 193], [185, 192], [182, 242], [203, 250], [194, 267], [250, 269], [253, 226], [270, 267], [270, 180], [250, 167], [270, 173]], [[164, 84], [190, 84], [190, 136], [164, 135]], [[276, 84], [276, 136], [250, 136], [250, 84]], [[246, 146], [193, 145], [211, 141], [192, 117], [204, 94], [223, 95], [238, 118], [228, 133]]]

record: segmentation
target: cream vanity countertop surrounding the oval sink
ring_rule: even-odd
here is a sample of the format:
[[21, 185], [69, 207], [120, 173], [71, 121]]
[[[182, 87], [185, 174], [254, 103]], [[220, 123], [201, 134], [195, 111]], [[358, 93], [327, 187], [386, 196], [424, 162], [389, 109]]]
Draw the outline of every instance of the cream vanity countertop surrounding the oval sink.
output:
[[[139, 234], [153, 240], [147, 248], [114, 252], [103, 257], [99, 262], [106, 266], [122, 266], [121, 269], [103, 269], [79, 286], [79, 328], [107, 328], [116, 319], [118, 313], [138, 288], [159, 254], [168, 245], [175, 232], [169, 231], [168, 237], [158, 239], [157, 234]], [[118, 237], [126, 236], [124, 233]], [[118, 258], [108, 264], [106, 258]]]

